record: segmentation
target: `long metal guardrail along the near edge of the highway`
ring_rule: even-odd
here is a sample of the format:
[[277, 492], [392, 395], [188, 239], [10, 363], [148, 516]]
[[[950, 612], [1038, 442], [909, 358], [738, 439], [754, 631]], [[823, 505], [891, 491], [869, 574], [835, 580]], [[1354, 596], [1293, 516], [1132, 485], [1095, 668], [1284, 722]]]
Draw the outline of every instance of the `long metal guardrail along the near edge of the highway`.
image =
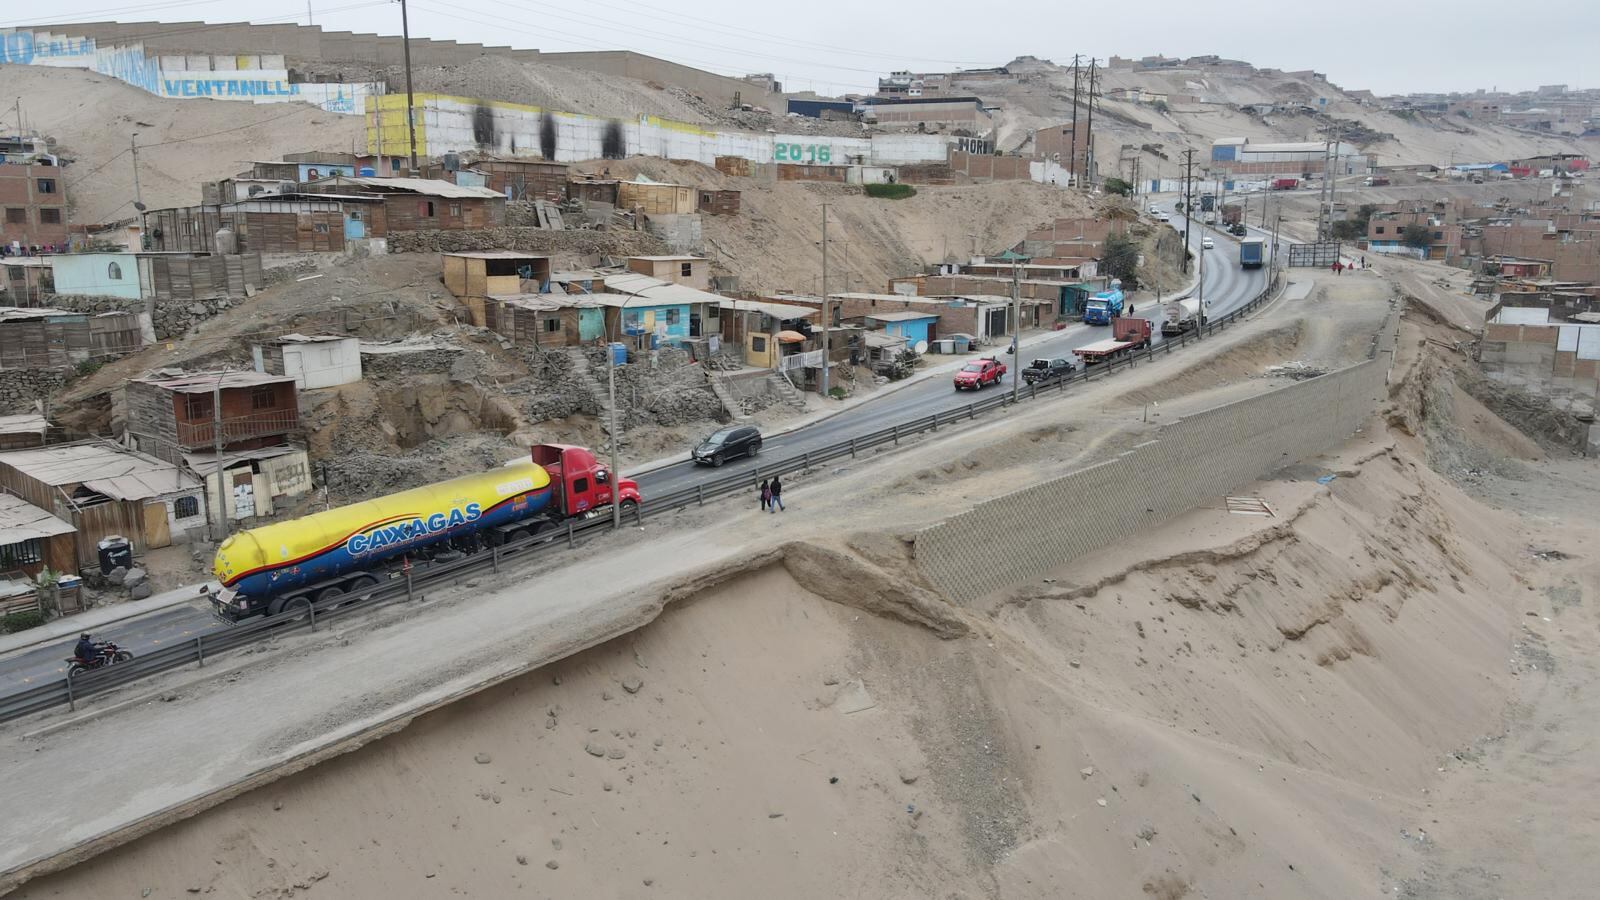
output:
[[[1194, 331], [1176, 338], [1166, 338], [1160, 344], [1149, 346], [1144, 351], [1118, 360], [1080, 368], [1078, 372], [1050, 383], [1048, 386], [1029, 384], [1018, 392], [1018, 400], [1035, 400], [1040, 397], [1059, 396], [1064, 394], [1072, 384], [1101, 381], [1117, 372], [1134, 368], [1141, 362], [1154, 362], [1158, 356], [1170, 356], [1174, 349], [1186, 348], [1192, 341], [1198, 341], [1203, 336], [1226, 331], [1229, 327], [1237, 325], [1242, 319], [1245, 319], [1245, 315], [1266, 304], [1275, 287], [1277, 279], [1269, 282], [1266, 290], [1253, 296], [1238, 309], [1211, 319], [1202, 328]], [[1013, 378], [1014, 376], [1016, 375], [1013, 375]], [[771, 464], [757, 464], [749, 471], [734, 472], [720, 479], [701, 482], [694, 487], [654, 496], [643, 504], [635, 506], [630, 516], [634, 524], [643, 525], [646, 516], [672, 512], [686, 506], [699, 506], [707, 500], [715, 500], [741, 490], [755, 490], [762, 479], [805, 471], [830, 460], [840, 460], [845, 456], [853, 458], [862, 450], [872, 450], [875, 447], [898, 445], [902, 439], [923, 432], [936, 432], [941, 426], [952, 426], [963, 420], [974, 420], [979, 413], [1008, 407], [1011, 402], [1010, 391], [995, 392], [989, 397], [976, 399], [965, 407], [955, 407], [930, 416], [891, 424], [870, 434], [840, 440], [818, 450], [803, 452], [786, 460], [778, 460]], [[19, 693], [0, 697], [0, 722], [19, 719], [22, 716], [61, 705], [77, 709], [78, 700], [106, 693], [170, 669], [189, 665], [205, 666], [206, 660], [216, 657], [218, 653], [237, 650], [238, 647], [266, 641], [267, 637], [293, 634], [302, 629], [317, 631], [322, 625], [339, 621], [347, 615], [355, 615], [373, 607], [397, 601], [414, 602], [419, 597], [419, 591], [424, 588], [445, 586], [469, 575], [499, 573], [501, 565], [526, 559], [531, 552], [546, 552], [557, 546], [571, 548], [576, 546], [579, 536], [600, 528], [610, 528], [610, 509], [602, 509], [600, 512], [600, 516], [590, 519], [566, 522], [565, 528], [554, 532], [546, 530], [522, 541], [491, 548], [490, 552], [478, 552], [453, 562], [418, 567], [403, 580], [390, 580], [389, 583], [360, 593], [355, 599], [341, 597], [338, 605], [328, 604], [326, 609], [318, 609], [320, 604], [312, 604], [309, 609], [298, 609], [275, 617], [256, 618], [218, 634], [202, 634], [195, 636], [192, 641], [170, 644], [126, 663], [117, 663], [114, 666], [94, 669], [75, 677], [69, 676], [61, 681], [30, 687]]]

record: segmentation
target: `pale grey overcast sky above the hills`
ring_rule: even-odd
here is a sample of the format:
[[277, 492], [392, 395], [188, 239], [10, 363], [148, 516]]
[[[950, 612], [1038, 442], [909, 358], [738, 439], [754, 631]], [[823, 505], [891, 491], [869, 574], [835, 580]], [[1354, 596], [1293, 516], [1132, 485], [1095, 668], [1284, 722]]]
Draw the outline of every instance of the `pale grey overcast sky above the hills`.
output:
[[[888, 69], [1002, 66], [1032, 54], [1195, 56], [1317, 69], [1378, 93], [1592, 86], [1600, 3], [1534, 18], [1504, 0], [1342, 0], [1326, 8], [1269, 0], [1194, 3], [920, 3], [811, 0], [408, 0], [413, 37], [538, 50], [635, 50], [723, 74], [774, 72], [787, 90], [870, 90]], [[8, 3], [0, 27], [38, 22]], [[54, 0], [50, 21], [238, 21], [237, 0]], [[307, 21], [304, 0], [256, 0], [254, 22]], [[984, 21], [978, 11], [992, 10]], [[1315, 18], [1288, 14], [1310, 11]], [[398, 34], [394, 0], [312, 0], [325, 29]]]

